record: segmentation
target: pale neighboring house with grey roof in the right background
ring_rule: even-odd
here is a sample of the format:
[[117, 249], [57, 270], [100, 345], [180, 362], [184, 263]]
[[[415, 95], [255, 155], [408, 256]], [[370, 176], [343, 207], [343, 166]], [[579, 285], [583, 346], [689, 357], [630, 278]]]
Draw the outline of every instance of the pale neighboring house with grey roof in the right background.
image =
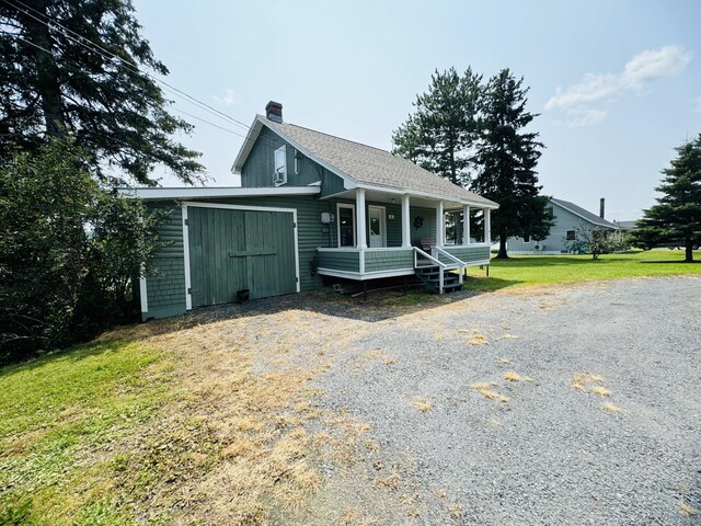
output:
[[[550, 207], [555, 224], [550, 229], [550, 235], [542, 240], [536, 241], [532, 238], [508, 238], [507, 248], [509, 254], [544, 254], [554, 255], [567, 253], [566, 241], [574, 240], [577, 228], [619, 230], [619, 226], [607, 221], [604, 217], [597, 216], [570, 203], [568, 201], [550, 199]], [[604, 215], [604, 201], [601, 201], [601, 216]]]

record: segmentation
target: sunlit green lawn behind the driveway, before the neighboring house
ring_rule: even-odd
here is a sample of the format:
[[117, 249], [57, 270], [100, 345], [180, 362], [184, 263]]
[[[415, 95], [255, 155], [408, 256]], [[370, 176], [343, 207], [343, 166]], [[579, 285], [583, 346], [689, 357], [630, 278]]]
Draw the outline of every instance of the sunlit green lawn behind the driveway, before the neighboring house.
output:
[[694, 252], [698, 263], [685, 263], [683, 251], [655, 249], [625, 254], [591, 255], [514, 255], [508, 260], [492, 260], [490, 278], [470, 270], [466, 288], [496, 290], [589, 279], [614, 279], [634, 276], [701, 275], [701, 251]]

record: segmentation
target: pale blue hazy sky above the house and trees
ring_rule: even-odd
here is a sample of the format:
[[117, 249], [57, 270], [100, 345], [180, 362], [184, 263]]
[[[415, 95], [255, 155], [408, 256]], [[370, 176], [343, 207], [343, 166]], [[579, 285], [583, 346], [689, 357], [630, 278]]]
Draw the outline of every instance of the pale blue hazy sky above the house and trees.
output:
[[[542, 193], [606, 218], [642, 217], [675, 147], [701, 133], [697, 0], [136, 0], [168, 83], [250, 125], [274, 100], [285, 122], [390, 150], [430, 75], [503, 68], [530, 88], [545, 145]], [[211, 186], [246, 129], [173, 93], [195, 125]], [[192, 116], [185, 115], [185, 112]], [[197, 118], [194, 118], [194, 117]], [[199, 119], [216, 124], [207, 124]], [[164, 186], [181, 185], [159, 170]]]

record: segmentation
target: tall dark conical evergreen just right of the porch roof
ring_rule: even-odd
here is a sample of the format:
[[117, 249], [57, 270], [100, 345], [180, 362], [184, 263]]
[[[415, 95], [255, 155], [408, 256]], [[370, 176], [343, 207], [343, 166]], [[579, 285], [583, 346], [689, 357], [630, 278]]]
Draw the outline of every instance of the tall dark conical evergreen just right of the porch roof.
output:
[[552, 226], [548, 197], [539, 195], [536, 165], [542, 142], [537, 133], [522, 129], [538, 115], [526, 111], [528, 88], [508, 69], [490, 79], [482, 99], [482, 127], [471, 190], [499, 204], [492, 215], [492, 231], [499, 238], [497, 258], [508, 258], [506, 239], [530, 236], [544, 239]]

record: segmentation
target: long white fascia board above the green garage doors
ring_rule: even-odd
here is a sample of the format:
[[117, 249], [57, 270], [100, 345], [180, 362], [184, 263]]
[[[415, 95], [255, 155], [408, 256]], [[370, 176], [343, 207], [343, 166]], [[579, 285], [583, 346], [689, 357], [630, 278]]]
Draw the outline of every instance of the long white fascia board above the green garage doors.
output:
[[143, 201], [223, 198], [223, 197], [264, 197], [278, 195], [315, 195], [319, 186], [276, 186], [276, 187], [185, 187], [185, 188], [119, 188], [119, 193], [128, 197]]

